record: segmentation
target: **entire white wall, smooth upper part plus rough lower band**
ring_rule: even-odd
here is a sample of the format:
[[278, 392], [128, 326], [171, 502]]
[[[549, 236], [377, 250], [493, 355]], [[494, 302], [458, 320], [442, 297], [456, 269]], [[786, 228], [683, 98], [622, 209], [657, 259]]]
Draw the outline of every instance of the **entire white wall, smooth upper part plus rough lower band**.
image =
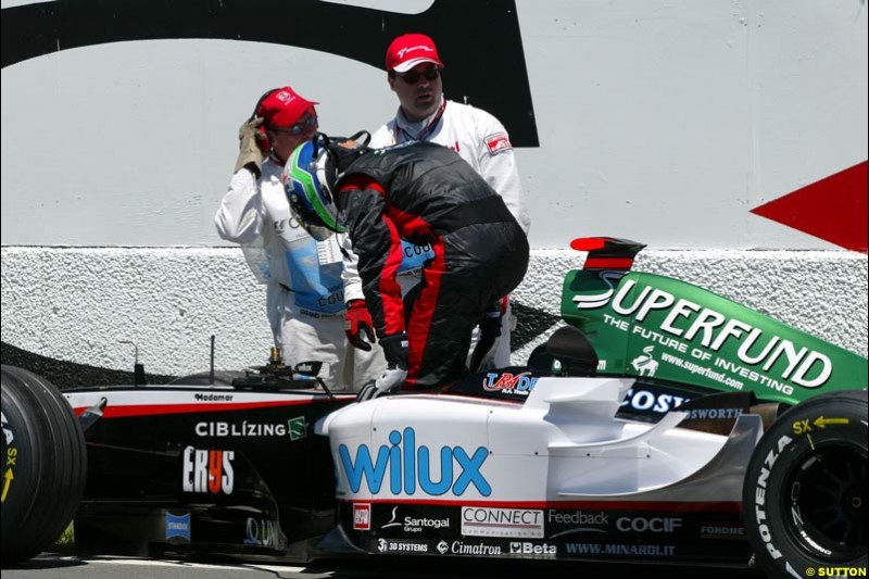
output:
[[[517, 151], [534, 248], [520, 302], [557, 311], [570, 239], [628, 237], [656, 250], [650, 270], [866, 355], [866, 256], [750, 213], [867, 159], [864, 0], [517, 11], [541, 143]], [[66, 50], [1, 80], [3, 341], [127, 368], [133, 337], [166, 374], [203, 368], [210, 333], [224, 367], [267, 351], [262, 289], [212, 223], [256, 98], [292, 84], [339, 134], [396, 106], [371, 66], [223, 40]]]

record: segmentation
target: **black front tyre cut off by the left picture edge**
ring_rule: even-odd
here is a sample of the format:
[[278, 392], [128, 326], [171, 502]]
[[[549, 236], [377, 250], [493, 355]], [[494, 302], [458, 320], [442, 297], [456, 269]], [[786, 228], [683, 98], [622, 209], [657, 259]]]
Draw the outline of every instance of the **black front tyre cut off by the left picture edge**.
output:
[[58, 539], [85, 490], [87, 450], [70, 403], [48, 380], [2, 366], [2, 565]]

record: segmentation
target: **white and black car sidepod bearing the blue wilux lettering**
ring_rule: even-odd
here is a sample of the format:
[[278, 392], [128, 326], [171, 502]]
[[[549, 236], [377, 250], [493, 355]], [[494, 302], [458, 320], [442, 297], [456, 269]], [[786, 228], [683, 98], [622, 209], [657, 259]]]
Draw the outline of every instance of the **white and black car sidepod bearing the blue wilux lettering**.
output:
[[512, 403], [407, 394], [329, 417], [342, 538], [374, 554], [745, 564], [760, 437], [615, 418], [632, 380], [540, 378]]

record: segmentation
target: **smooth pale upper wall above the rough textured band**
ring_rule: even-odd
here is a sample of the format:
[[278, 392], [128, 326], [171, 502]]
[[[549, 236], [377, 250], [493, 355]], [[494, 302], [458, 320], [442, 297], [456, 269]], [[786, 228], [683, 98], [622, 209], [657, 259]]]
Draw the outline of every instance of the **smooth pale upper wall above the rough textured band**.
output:
[[[518, 152], [533, 247], [834, 248], [748, 210], [867, 159], [862, 0], [517, 10], [541, 142]], [[288, 83], [322, 102], [326, 131], [375, 129], [396, 105], [382, 71], [265, 43], [118, 42], [5, 67], [2, 243], [222, 244], [236, 129]]]

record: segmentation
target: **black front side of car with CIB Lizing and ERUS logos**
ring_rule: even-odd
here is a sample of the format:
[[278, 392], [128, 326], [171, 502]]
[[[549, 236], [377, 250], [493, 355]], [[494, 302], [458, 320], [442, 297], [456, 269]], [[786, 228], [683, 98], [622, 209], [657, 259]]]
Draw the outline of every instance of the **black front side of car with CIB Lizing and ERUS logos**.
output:
[[335, 525], [333, 469], [313, 425], [354, 397], [232, 387], [70, 391], [106, 399], [86, 432], [76, 549], [307, 559]]

